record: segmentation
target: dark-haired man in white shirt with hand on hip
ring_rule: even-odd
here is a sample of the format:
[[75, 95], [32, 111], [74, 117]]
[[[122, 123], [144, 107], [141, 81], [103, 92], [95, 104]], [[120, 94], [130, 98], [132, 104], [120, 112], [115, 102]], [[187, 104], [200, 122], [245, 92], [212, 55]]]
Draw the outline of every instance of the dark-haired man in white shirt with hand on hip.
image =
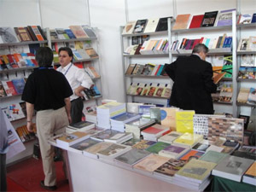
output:
[[73, 65], [72, 49], [61, 47], [61, 49], [59, 49], [59, 61], [61, 67], [58, 67], [57, 71], [65, 75], [73, 90], [73, 95], [70, 97], [72, 123], [78, 123], [82, 119], [84, 108], [84, 103], [81, 98], [84, 96], [82, 91], [86, 88], [91, 89], [94, 84], [90, 76], [85, 73], [84, 70]]

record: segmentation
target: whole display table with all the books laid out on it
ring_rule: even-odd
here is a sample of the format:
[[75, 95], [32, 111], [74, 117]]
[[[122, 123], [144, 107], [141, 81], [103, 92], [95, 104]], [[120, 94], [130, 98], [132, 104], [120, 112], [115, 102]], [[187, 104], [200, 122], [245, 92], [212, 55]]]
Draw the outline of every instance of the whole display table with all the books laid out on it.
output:
[[[211, 181], [214, 191], [232, 182], [248, 191], [255, 189], [256, 149], [241, 146], [243, 119], [159, 108], [165, 113], [175, 111], [170, 113], [175, 114], [170, 118], [176, 121], [173, 129], [166, 121], [124, 113], [120, 105], [111, 108], [104, 108], [109, 121], [97, 114], [108, 129], [79, 123], [88, 127], [79, 131], [71, 125], [71, 132], [49, 139], [67, 150], [73, 191], [203, 191]], [[155, 115], [156, 108], [152, 111]], [[230, 132], [230, 127], [236, 131]], [[225, 138], [223, 133], [227, 133]], [[234, 136], [236, 141], [230, 139]]]

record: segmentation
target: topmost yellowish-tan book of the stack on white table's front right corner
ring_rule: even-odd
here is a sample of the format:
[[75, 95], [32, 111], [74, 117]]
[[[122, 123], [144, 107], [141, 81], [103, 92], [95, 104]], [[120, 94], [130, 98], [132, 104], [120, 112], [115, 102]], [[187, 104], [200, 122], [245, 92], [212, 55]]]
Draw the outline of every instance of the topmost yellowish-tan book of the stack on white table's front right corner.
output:
[[181, 168], [175, 177], [183, 178], [183, 181], [193, 181], [195, 183], [203, 183], [207, 177], [211, 175], [212, 169], [216, 163], [203, 160], [189, 160], [183, 168]]

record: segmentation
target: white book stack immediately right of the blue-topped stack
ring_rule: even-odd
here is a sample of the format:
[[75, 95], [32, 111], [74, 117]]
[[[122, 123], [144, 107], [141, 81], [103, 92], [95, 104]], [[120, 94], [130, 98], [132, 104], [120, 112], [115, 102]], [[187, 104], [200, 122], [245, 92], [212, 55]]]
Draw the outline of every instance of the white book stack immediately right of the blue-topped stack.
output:
[[141, 137], [141, 130], [153, 125], [155, 120], [153, 119], [138, 119], [125, 124], [125, 132], [131, 132], [133, 137], [139, 139]]

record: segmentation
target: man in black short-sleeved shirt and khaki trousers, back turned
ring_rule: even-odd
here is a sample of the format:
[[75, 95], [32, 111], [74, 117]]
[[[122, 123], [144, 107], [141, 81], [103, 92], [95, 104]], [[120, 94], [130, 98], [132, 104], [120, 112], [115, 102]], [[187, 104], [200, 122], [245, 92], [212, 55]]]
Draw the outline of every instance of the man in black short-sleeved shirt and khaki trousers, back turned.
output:
[[44, 168], [41, 187], [55, 190], [54, 147], [48, 143], [48, 139], [54, 134], [65, 132], [71, 122], [69, 96], [72, 96], [73, 91], [65, 76], [51, 66], [53, 53], [49, 47], [40, 47], [36, 60], [39, 67], [26, 80], [21, 99], [26, 102], [28, 131], [32, 131], [33, 110], [37, 111], [36, 125]]

